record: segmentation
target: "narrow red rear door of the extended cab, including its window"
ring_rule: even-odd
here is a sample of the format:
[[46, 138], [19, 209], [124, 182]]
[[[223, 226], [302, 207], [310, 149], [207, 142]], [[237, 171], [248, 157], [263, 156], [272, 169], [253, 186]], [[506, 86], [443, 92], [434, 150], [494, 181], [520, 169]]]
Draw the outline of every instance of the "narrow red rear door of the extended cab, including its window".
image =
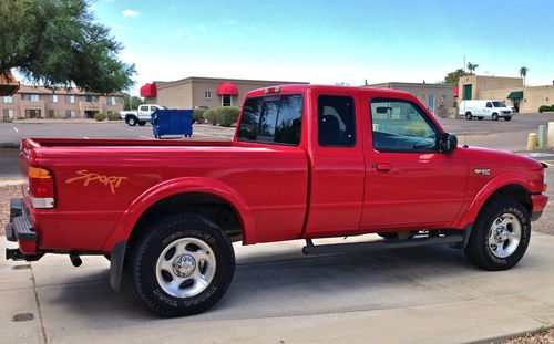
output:
[[310, 126], [310, 195], [305, 236], [359, 231], [365, 161], [359, 102], [345, 94], [314, 94]]

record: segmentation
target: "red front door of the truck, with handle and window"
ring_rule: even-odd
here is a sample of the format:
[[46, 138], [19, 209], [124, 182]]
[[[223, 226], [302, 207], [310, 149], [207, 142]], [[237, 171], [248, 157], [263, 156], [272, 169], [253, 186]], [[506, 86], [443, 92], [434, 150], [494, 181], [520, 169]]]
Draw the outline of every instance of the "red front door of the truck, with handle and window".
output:
[[361, 227], [383, 230], [448, 228], [464, 200], [462, 149], [440, 153], [442, 135], [412, 101], [368, 98], [366, 186]]

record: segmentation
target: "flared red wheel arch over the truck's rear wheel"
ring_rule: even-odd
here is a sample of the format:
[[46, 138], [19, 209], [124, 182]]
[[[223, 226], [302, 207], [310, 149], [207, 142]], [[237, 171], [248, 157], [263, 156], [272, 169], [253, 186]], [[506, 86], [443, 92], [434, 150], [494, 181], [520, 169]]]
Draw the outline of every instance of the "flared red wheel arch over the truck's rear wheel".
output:
[[[113, 227], [102, 251], [111, 252], [117, 242], [133, 239], [134, 234], [144, 230], [144, 225], [158, 217], [160, 212], [171, 215], [192, 209], [193, 212], [205, 215], [209, 212], [211, 207], [218, 208], [212, 209], [212, 213], [223, 211], [224, 218], [235, 221], [245, 244], [256, 242], [252, 211], [237, 191], [215, 179], [185, 177], [166, 180], [138, 196]], [[236, 233], [236, 228], [230, 232]]]

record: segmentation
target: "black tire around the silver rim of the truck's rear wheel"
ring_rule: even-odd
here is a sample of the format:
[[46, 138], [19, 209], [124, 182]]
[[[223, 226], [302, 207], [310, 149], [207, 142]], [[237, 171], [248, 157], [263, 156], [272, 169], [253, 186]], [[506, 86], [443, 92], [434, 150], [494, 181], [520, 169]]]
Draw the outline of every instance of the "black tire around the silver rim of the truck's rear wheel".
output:
[[[191, 244], [186, 243], [187, 240], [193, 240], [207, 248], [203, 250], [202, 247], [197, 246], [196, 252], [201, 252], [205, 257], [209, 257], [209, 259], [215, 259], [215, 264], [207, 268], [212, 269], [212, 275], [206, 282], [207, 284], [205, 286], [201, 285], [197, 293], [187, 298], [172, 295], [167, 289], [173, 278], [164, 281], [163, 279], [170, 272], [163, 270], [163, 268], [161, 272], [158, 271], [161, 260], [171, 264], [173, 275], [177, 273], [176, 269], [184, 267], [183, 260], [179, 261], [181, 263], [176, 262], [179, 258], [187, 256], [187, 253], [179, 254], [177, 251], [176, 244], [183, 240], [185, 240], [185, 249], [183, 249], [185, 252], [194, 254], [194, 251], [187, 251], [186, 249]], [[194, 246], [194, 243], [192, 244]], [[175, 246], [175, 251], [167, 258], [167, 254], [173, 250], [172, 246]], [[162, 316], [191, 315], [209, 309], [225, 294], [233, 280], [235, 253], [229, 239], [215, 223], [195, 213], [170, 216], [160, 220], [151, 228], [147, 228], [144, 234], [134, 242], [133, 248], [134, 250], [127, 257], [130, 260], [127, 273], [131, 285], [137, 298], [151, 311]], [[167, 248], [170, 250], [164, 253]], [[196, 270], [198, 273], [204, 274], [204, 272], [201, 272], [202, 261], [197, 260], [196, 262], [194, 259], [192, 261], [186, 268], [193, 270], [188, 271], [192, 274], [181, 277], [184, 281], [176, 286], [178, 292], [186, 292], [187, 289], [194, 292], [197, 283], [194, 278]], [[175, 264], [179, 268], [175, 268]], [[204, 262], [204, 267], [206, 264]], [[182, 271], [178, 270], [178, 272]], [[162, 282], [160, 282], [161, 278]], [[193, 282], [187, 283], [191, 280]], [[183, 286], [184, 284], [188, 285]]]

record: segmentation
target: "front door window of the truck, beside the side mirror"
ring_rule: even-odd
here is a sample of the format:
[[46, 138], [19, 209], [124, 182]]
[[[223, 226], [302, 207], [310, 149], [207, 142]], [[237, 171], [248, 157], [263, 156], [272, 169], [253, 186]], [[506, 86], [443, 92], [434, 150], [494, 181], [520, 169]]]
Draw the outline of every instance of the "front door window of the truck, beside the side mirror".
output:
[[373, 148], [379, 152], [437, 152], [437, 127], [414, 104], [400, 100], [371, 101]]

